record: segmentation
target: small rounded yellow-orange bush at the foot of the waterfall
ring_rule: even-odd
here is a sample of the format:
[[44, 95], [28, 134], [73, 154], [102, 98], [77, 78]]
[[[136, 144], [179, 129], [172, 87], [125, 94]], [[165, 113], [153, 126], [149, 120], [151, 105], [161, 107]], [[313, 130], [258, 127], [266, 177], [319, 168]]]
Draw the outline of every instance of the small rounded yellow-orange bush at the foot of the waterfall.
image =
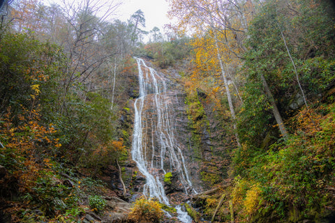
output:
[[161, 203], [140, 197], [135, 201], [128, 220], [131, 222], [160, 222], [163, 217]]

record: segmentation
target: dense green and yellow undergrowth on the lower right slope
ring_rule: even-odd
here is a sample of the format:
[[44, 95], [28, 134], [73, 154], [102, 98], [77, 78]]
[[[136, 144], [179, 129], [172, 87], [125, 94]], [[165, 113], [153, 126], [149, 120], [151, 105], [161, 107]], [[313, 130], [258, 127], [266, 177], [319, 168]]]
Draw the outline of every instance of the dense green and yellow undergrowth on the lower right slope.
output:
[[334, 118], [334, 104], [303, 110], [293, 118], [295, 132], [288, 139], [246, 160], [244, 171], [244, 163], [235, 161], [241, 176], [234, 180], [232, 201], [239, 220], [320, 222], [334, 210]]

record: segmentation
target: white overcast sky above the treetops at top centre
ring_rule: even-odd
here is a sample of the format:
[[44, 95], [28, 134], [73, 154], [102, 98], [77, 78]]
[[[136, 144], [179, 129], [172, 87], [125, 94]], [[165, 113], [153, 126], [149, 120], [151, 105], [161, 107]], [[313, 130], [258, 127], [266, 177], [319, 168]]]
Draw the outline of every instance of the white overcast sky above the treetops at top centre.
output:
[[[48, 2], [58, 3], [61, 5], [61, 0], [47, 0]], [[68, 0], [68, 1], [80, 1], [80, 0]], [[108, 1], [108, 0], [101, 0]], [[163, 33], [164, 24], [170, 24], [170, 20], [167, 17], [168, 13], [168, 2], [165, 0], [119, 0], [121, 6], [117, 9], [115, 17], [126, 22], [131, 15], [137, 10], [142, 10], [145, 17], [146, 28], [144, 30], [151, 31], [154, 26], [161, 29]]]

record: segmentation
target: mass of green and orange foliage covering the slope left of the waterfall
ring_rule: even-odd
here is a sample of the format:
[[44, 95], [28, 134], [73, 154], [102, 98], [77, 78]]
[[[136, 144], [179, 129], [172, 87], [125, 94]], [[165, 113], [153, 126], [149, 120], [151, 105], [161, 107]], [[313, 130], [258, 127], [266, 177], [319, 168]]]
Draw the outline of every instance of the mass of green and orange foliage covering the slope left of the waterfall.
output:
[[[24, 2], [13, 15], [36, 19], [31, 12], [39, 6]], [[78, 169], [93, 176], [126, 155], [123, 134], [109, 100], [83, 95], [79, 82], [66, 89], [64, 49], [38, 40], [38, 22], [20, 21], [1, 24], [0, 221], [79, 221], [85, 196], [101, 192], [101, 183]]]

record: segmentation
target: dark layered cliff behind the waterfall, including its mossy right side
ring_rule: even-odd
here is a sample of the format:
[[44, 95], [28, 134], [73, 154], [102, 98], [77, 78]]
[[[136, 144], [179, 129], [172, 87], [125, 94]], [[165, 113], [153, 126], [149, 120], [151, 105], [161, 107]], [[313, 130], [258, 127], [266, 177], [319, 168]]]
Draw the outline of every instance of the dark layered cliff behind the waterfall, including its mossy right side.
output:
[[[151, 67], [148, 61], [145, 61], [145, 63], [148, 67]], [[141, 65], [141, 68], [144, 72], [143, 75], [149, 77], [142, 83], [143, 85], [147, 84], [145, 86], [147, 102], [143, 104], [141, 112], [143, 156], [149, 160], [147, 167], [150, 174], [163, 184], [168, 199], [175, 204], [184, 203], [190, 199], [191, 194], [208, 190], [215, 183], [221, 182], [223, 178], [227, 177], [229, 155], [225, 148], [234, 147], [232, 145], [234, 140], [228, 137], [233, 134], [229, 134], [229, 127], [225, 127], [221, 121], [225, 116], [224, 111], [221, 112], [222, 114], [220, 111], [214, 112], [214, 105], [207, 102], [207, 95], [201, 90], [197, 91], [198, 99], [204, 109], [204, 116], [200, 118], [206, 119], [208, 125], [201, 130], [195, 130], [187, 114], [187, 95], [177, 71], [172, 68], [155, 70], [157, 72], [156, 82], [159, 83], [159, 78], [165, 82], [165, 86], [163, 84], [157, 86], [158, 89], [165, 88], [162, 95], [161, 93], [155, 93], [154, 84], [149, 84], [153, 81], [149, 68], [144, 65]], [[140, 79], [136, 82], [140, 83]], [[140, 90], [137, 91], [140, 92]], [[139, 96], [141, 96], [140, 93]], [[129, 102], [130, 107], [135, 100]], [[164, 109], [164, 112], [156, 111], [157, 103], [161, 103], [159, 106]], [[136, 106], [137, 109], [140, 107], [138, 100]], [[131, 107], [130, 111], [128, 111], [128, 114], [131, 114], [131, 116], [128, 119], [135, 124], [135, 107]], [[159, 126], [161, 126], [161, 130], [157, 130]], [[173, 130], [170, 131], [169, 128]], [[166, 133], [173, 134], [173, 150], [176, 153], [178, 150], [181, 151], [183, 157], [179, 156], [177, 160], [183, 167], [186, 167], [191, 186], [185, 183], [185, 171], [177, 170], [175, 167], [174, 161], [171, 160], [172, 154], [166, 152], [166, 150], [161, 153], [161, 148], [165, 149], [167, 147], [167, 144], [161, 140], [162, 137], [165, 137], [162, 132], [165, 135], [167, 135]], [[228, 133], [225, 134], [224, 132]], [[133, 136], [130, 139], [133, 143]], [[168, 172], [172, 173], [170, 184], [163, 182], [164, 175]], [[182, 174], [184, 174], [184, 177], [181, 176]], [[130, 160], [125, 164], [124, 181], [132, 194], [128, 197], [129, 201], [135, 201], [145, 190], [144, 185], [147, 183], [147, 176], [144, 176], [137, 168], [136, 162]]]

